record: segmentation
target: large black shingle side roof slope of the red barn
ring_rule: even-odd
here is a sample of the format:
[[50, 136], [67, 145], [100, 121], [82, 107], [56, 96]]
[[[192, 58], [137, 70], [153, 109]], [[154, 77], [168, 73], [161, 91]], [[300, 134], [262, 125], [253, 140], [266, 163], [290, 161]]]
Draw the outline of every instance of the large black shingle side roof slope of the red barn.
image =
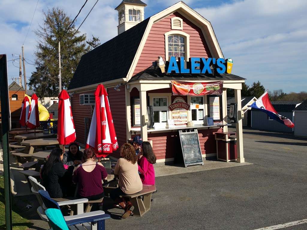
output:
[[84, 54], [68, 90], [125, 78], [150, 17]]

